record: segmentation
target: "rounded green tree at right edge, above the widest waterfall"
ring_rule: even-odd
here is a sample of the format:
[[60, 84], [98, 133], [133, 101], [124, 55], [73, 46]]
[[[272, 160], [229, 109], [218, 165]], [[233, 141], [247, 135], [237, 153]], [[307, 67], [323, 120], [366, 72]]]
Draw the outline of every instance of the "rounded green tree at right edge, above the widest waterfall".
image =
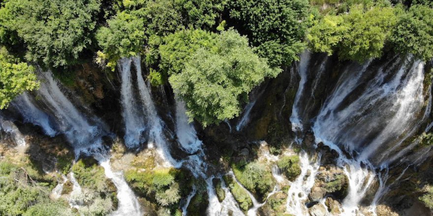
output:
[[410, 7], [399, 16], [391, 34], [394, 49], [429, 61], [433, 58], [433, 9], [423, 5]]

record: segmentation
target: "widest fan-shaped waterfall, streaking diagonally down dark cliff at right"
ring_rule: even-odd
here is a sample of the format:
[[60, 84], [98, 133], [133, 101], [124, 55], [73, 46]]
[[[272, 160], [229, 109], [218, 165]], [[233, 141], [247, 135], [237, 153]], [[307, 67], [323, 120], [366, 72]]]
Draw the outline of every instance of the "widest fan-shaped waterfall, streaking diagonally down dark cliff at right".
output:
[[[378, 148], [384, 148], [380, 152], [389, 155], [391, 152], [385, 150], [416, 125], [413, 116], [422, 108], [422, 64], [410, 62], [410, 59], [400, 64], [395, 61], [386, 70], [387, 65], [382, 65], [376, 72], [367, 70], [369, 63], [359, 72], [345, 71], [317, 116], [314, 135], [325, 144], [360, 151], [361, 161], [370, 159], [373, 152], [378, 157], [380, 153], [375, 151]], [[371, 73], [375, 79], [367, 80]], [[387, 81], [389, 76], [391, 80]], [[361, 84], [363, 91], [355, 91]], [[356, 97], [352, 95], [355, 93]], [[349, 97], [355, 100], [347, 104]]]

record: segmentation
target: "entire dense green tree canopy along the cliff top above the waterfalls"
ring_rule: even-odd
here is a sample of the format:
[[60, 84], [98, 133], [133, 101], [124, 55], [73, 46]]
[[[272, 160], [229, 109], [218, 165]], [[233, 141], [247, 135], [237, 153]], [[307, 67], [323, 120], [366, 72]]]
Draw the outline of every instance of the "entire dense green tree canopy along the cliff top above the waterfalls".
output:
[[36, 69], [113, 73], [141, 55], [203, 126], [238, 116], [248, 93], [306, 48], [359, 62], [384, 52], [433, 58], [430, 0], [4, 0], [1, 108], [37, 89]]

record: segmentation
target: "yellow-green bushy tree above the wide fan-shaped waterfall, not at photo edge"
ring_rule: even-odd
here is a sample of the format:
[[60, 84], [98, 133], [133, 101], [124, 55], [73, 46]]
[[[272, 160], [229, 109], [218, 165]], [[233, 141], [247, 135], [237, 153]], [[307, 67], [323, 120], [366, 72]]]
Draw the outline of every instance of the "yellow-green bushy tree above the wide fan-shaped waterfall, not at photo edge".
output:
[[323, 17], [309, 29], [307, 38], [315, 52], [333, 54], [338, 50], [342, 59], [363, 62], [382, 55], [396, 22], [392, 7], [378, 5], [365, 10], [354, 5], [347, 14]]

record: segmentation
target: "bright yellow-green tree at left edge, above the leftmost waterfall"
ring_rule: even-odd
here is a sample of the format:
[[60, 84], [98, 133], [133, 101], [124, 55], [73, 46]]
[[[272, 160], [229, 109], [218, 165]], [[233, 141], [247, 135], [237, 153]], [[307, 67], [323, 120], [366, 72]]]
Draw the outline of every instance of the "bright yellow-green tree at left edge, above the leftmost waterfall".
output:
[[39, 87], [34, 74], [34, 67], [8, 54], [4, 47], [0, 49], [0, 109], [23, 92]]

